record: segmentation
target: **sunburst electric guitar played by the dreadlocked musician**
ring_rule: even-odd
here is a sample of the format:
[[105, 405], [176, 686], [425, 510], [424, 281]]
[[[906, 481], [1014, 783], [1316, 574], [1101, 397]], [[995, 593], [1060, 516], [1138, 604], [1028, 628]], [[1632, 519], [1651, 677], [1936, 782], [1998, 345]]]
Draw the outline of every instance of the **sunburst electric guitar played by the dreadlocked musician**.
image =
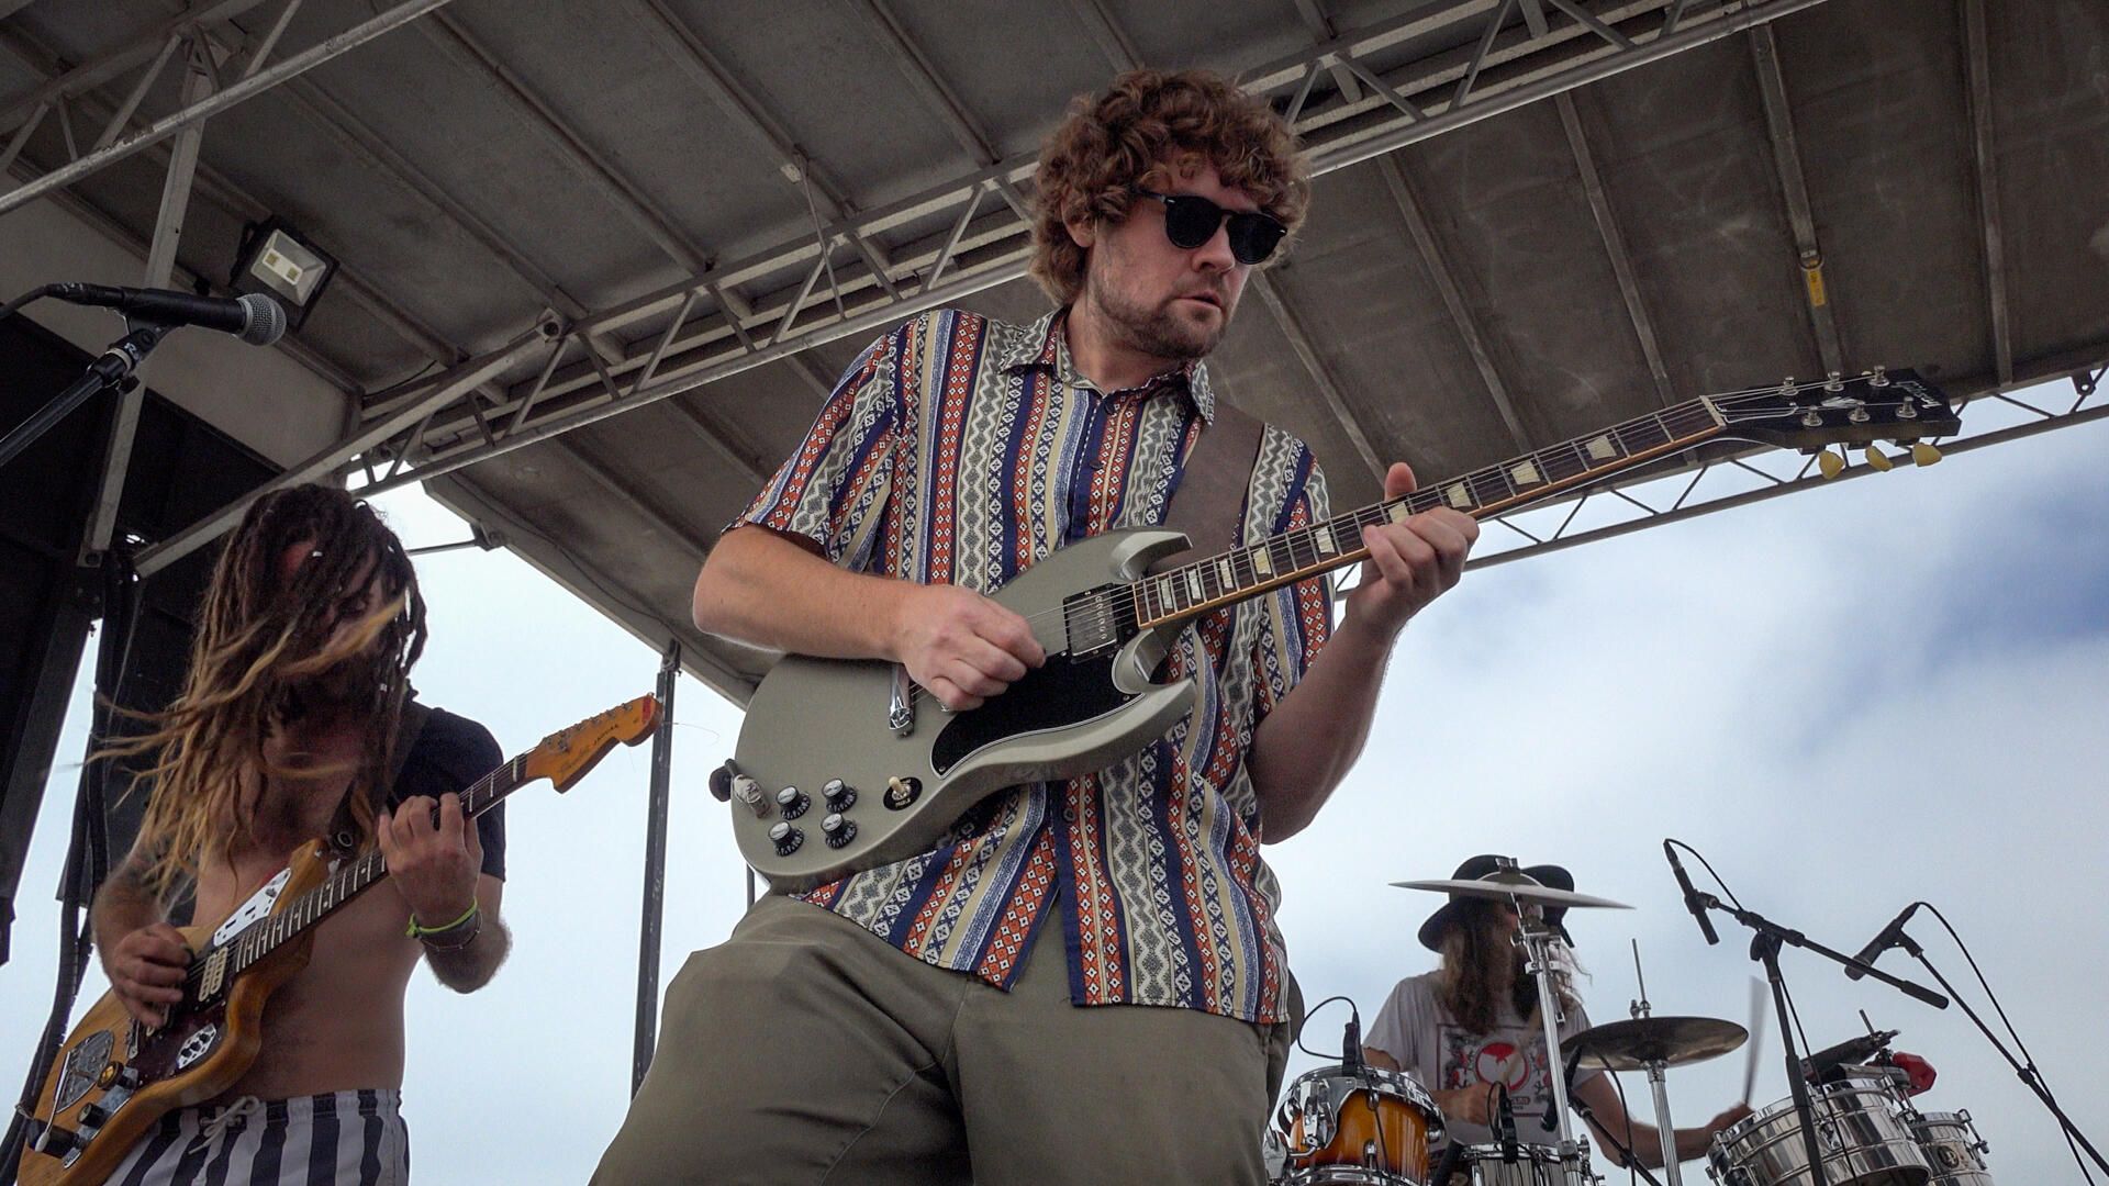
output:
[[[536, 779], [572, 789], [614, 745], [637, 745], [658, 726], [660, 703], [639, 696], [544, 737], [462, 791], [475, 817]], [[202, 1104], [255, 1061], [264, 1007], [308, 964], [314, 926], [388, 876], [380, 850], [331, 867], [316, 842], [228, 918], [183, 929], [194, 952], [183, 1002], [162, 1026], [135, 1021], [103, 994], [74, 1026], [38, 1095], [21, 1186], [95, 1186], [173, 1108]]]

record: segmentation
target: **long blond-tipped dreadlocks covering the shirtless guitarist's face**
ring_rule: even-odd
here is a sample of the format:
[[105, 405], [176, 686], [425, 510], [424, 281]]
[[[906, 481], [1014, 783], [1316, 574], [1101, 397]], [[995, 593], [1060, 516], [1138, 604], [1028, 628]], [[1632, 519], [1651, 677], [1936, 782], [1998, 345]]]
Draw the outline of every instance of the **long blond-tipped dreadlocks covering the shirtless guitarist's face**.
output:
[[[291, 553], [295, 544], [302, 551]], [[340, 631], [340, 610], [373, 580], [380, 580], [378, 604]], [[139, 777], [154, 789], [137, 846], [152, 857], [143, 869], [148, 884], [167, 893], [179, 876], [196, 876], [198, 857], [215, 838], [221, 855], [232, 853], [251, 834], [266, 774], [331, 772], [312, 764], [272, 766], [264, 753], [276, 728], [314, 707], [316, 677], [325, 673], [340, 696], [350, 694], [369, 713], [350, 796], [361, 842], [369, 840], [369, 791], [386, 772], [424, 639], [418, 574], [371, 506], [327, 485], [257, 498], [213, 568], [183, 692], [165, 711], [137, 713], [148, 732], [97, 753], [148, 755]]]

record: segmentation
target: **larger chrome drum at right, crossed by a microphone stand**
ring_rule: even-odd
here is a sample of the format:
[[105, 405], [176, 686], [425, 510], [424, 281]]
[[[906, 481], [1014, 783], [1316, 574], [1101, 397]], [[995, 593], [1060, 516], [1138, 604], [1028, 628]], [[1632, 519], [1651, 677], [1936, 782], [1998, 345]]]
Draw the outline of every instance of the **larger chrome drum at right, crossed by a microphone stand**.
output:
[[[1932, 1175], [1904, 1104], [1885, 1083], [1810, 1087], [1829, 1186], [1926, 1186]], [[1801, 1116], [1782, 1099], [1715, 1133], [1706, 1171], [1723, 1186], [1810, 1186]]]

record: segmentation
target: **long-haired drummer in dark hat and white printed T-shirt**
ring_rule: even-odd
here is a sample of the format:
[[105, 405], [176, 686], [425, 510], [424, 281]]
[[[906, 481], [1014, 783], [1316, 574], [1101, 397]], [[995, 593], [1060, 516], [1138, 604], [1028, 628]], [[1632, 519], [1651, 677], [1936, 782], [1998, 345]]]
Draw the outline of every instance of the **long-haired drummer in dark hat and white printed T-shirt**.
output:
[[[1457, 865], [1453, 880], [1485, 880], [1499, 867], [1497, 857], [1472, 857]], [[1573, 891], [1573, 876], [1559, 865], [1523, 869], [1535, 882]], [[1546, 907], [1546, 922], [1573, 943], [1563, 924], [1565, 907]], [[1546, 1059], [1546, 1030], [1537, 1007], [1537, 981], [1525, 971], [1525, 954], [1512, 939], [1516, 910], [1504, 901], [1449, 895], [1449, 901], [1428, 916], [1419, 939], [1443, 962], [1436, 971], [1398, 981], [1384, 1000], [1377, 1019], [1362, 1042], [1365, 1057], [1390, 1070], [1417, 1078], [1443, 1110], [1447, 1137], [1462, 1144], [1493, 1144], [1499, 1140], [1497, 1091], [1508, 1087], [1508, 1104], [1523, 1144], [1559, 1144], [1559, 1123], [1552, 1116], [1552, 1064]], [[1588, 1030], [1573, 975], [1580, 971], [1567, 943], [1556, 945], [1552, 988], [1561, 1002], [1559, 1034]], [[1634, 1150], [1641, 1165], [1662, 1165], [1662, 1140], [1656, 1127], [1634, 1121], [1618, 1099], [1605, 1072], [1575, 1074], [1569, 1093], [1575, 1108], [1592, 1116], [1594, 1146], [1615, 1163], [1618, 1144]], [[1750, 1114], [1736, 1104], [1704, 1127], [1677, 1129], [1679, 1159], [1704, 1156], [1706, 1144], [1727, 1125]], [[1605, 1140], [1605, 1129], [1618, 1144]]]

